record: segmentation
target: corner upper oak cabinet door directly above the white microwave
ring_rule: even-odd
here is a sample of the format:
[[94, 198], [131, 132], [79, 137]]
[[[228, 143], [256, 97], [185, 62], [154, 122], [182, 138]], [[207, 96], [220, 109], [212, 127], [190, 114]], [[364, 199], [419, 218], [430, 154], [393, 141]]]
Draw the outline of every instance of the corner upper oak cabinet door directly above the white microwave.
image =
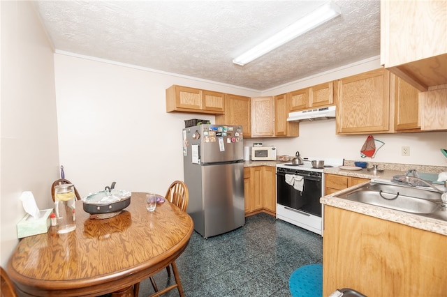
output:
[[274, 135], [273, 97], [251, 98], [251, 137]]

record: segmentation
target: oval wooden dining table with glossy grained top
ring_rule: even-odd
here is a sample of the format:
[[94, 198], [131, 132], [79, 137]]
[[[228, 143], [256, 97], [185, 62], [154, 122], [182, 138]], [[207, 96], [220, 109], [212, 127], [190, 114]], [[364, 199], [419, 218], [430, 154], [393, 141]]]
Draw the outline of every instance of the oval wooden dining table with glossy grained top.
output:
[[76, 229], [22, 238], [7, 271], [19, 296], [100, 296], [129, 291], [186, 249], [191, 217], [165, 201], [146, 210], [144, 192], [113, 218], [91, 219], [76, 201]]

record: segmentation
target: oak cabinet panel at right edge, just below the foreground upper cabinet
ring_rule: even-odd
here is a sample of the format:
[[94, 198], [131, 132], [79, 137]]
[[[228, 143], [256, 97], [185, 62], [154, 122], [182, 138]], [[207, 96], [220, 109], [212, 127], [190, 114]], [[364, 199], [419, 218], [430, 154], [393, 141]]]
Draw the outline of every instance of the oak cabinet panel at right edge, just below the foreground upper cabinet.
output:
[[423, 100], [422, 130], [447, 130], [447, 89], [421, 93]]

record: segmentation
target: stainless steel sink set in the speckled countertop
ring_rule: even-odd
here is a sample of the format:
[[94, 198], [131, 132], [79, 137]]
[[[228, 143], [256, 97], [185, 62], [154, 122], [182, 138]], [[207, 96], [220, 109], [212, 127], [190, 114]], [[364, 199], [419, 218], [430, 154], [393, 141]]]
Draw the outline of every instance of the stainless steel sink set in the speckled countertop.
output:
[[447, 220], [447, 208], [441, 206], [441, 193], [403, 185], [367, 183], [335, 197]]

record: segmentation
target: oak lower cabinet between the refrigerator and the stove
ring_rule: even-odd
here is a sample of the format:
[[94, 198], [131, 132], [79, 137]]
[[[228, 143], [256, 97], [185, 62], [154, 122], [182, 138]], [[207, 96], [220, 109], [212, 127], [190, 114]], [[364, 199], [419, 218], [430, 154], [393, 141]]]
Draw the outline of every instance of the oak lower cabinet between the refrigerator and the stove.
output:
[[276, 215], [276, 167], [244, 168], [245, 216], [256, 213]]

